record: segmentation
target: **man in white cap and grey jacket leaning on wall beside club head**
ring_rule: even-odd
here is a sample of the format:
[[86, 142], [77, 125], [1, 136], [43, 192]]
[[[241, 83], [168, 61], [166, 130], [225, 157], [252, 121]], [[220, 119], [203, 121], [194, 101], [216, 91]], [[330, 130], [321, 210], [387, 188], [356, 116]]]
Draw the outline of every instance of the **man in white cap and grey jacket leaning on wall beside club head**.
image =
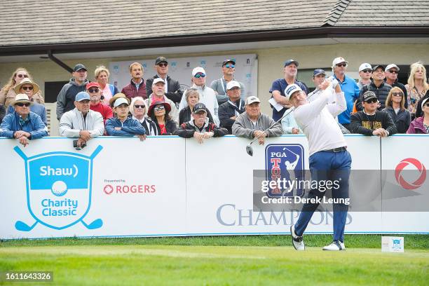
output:
[[[253, 139], [259, 137], [260, 145], [265, 144], [265, 137], [278, 137], [283, 134], [282, 125], [275, 123], [273, 118], [265, 114], [261, 114], [260, 100], [256, 96], [246, 98], [246, 111], [237, 116], [234, 122], [232, 131], [233, 135]], [[269, 127], [270, 130], [264, 131]]]

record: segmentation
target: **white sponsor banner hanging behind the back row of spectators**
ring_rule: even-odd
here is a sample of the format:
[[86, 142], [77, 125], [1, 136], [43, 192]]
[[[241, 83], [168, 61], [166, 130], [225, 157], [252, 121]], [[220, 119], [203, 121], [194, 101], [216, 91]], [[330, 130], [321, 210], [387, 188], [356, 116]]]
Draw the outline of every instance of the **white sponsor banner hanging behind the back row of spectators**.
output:
[[[245, 86], [246, 97], [250, 95], [257, 96], [257, 55], [213, 55], [201, 57], [177, 57], [168, 58], [168, 75], [179, 83], [191, 86], [192, 69], [194, 67], [203, 67], [207, 74], [206, 83], [222, 77], [222, 62], [226, 59], [236, 60], [236, 72], [234, 77]], [[130, 72], [128, 67], [132, 62], [139, 62], [144, 68], [144, 80], [147, 80], [156, 74], [154, 69], [156, 57], [150, 60], [132, 60], [124, 62], [110, 62], [109, 81], [121, 89], [130, 83]]]

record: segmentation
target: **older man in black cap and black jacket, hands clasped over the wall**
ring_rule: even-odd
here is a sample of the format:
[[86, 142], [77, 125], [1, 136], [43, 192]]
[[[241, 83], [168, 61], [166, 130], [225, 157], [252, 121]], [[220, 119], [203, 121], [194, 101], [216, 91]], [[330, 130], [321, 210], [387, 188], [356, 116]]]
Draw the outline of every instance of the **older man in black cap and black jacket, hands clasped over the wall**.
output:
[[194, 137], [198, 143], [203, 144], [205, 139], [211, 137], [222, 137], [228, 134], [226, 128], [218, 128], [214, 123], [210, 123], [207, 117], [207, 109], [203, 103], [195, 104], [192, 111], [193, 120], [183, 123], [180, 128], [173, 132], [183, 138]]

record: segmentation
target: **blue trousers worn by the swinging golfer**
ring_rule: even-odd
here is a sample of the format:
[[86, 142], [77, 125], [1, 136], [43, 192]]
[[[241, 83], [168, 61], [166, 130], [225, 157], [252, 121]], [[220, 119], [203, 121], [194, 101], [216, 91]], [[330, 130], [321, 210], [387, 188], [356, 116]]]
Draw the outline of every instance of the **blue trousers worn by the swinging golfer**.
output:
[[[339, 188], [332, 188], [332, 198], [348, 198], [348, 178], [350, 177], [351, 156], [348, 151], [331, 152], [319, 151], [311, 155], [310, 161], [311, 179], [339, 181]], [[325, 192], [318, 189], [311, 189], [307, 198], [323, 198]], [[318, 208], [319, 203], [306, 203], [302, 207], [295, 233], [302, 236], [310, 222], [313, 213]], [[344, 241], [344, 228], [346, 226], [348, 205], [334, 203], [334, 240]]]

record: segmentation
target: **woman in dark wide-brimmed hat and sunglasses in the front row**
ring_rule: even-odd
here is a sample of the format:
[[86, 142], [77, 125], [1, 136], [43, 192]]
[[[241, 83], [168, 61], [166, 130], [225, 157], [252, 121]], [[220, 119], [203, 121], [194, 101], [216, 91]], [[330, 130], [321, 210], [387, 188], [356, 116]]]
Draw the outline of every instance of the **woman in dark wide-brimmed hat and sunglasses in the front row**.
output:
[[149, 117], [155, 122], [158, 135], [172, 135], [177, 125], [170, 118], [170, 104], [163, 101], [152, 102], [149, 107]]

